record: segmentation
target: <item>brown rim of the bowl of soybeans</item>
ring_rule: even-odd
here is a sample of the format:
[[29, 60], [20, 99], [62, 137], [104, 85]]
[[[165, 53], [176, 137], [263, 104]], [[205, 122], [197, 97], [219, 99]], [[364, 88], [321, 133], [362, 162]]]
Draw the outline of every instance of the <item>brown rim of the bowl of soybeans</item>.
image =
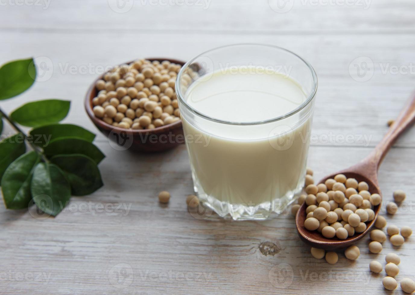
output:
[[[146, 60], [150, 60], [150, 61], [154, 61], [154, 60], [158, 60], [158, 61], [163, 61], [163, 60], [168, 60], [171, 63], [177, 63], [181, 66], [183, 66], [186, 62], [182, 61], [182, 60], [178, 60], [178, 59], [174, 59], [174, 58], [144, 58]], [[126, 62], [126, 64], [132, 63], [134, 62], [134, 60]], [[120, 63], [123, 64], [123, 63]], [[125, 128], [120, 128], [120, 127], [116, 127], [116, 126], [112, 126], [108, 123], [106, 123], [105, 121], [101, 120], [100, 118], [95, 117], [95, 114], [93, 112], [93, 107], [92, 107], [92, 99], [94, 98], [94, 96], [92, 95], [94, 90], [96, 93], [98, 93], [98, 90], [95, 89], [95, 84], [98, 80], [103, 80], [103, 77], [106, 73], [103, 73], [102, 75], [100, 75], [98, 78], [96, 78], [91, 85], [88, 88], [88, 91], [85, 94], [85, 99], [84, 99], [84, 107], [85, 107], [85, 111], [86, 114], [88, 115], [88, 117], [90, 118], [90, 120], [95, 124], [98, 125], [99, 128], [103, 128], [108, 132], [117, 132], [120, 133], [122, 131], [124, 132], [129, 132], [134, 134], [148, 134], [148, 133], [163, 133], [165, 131], [171, 130], [171, 129], [176, 129], [178, 127], [182, 126], [182, 120], [180, 119], [179, 121], [170, 123], [168, 125], [164, 125], [164, 126], [160, 126], [160, 127], [156, 127], [156, 128], [152, 128], [152, 129], [125, 129]]]

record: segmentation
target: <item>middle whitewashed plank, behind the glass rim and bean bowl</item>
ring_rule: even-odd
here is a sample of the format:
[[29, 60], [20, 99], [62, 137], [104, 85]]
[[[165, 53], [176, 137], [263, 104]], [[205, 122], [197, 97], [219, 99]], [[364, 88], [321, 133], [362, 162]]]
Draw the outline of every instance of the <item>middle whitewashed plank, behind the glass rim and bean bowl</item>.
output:
[[[6, 44], [15, 44], [13, 47], [0, 48], [0, 63], [35, 56], [46, 57], [46, 61], [50, 60], [53, 64], [53, 73], [49, 80], [37, 82], [17, 99], [2, 102], [2, 107], [12, 111], [29, 99], [71, 99], [71, 114], [66, 121], [78, 122], [90, 130], [96, 129], [85, 115], [83, 99], [90, 83], [98, 76], [98, 66], [105, 68], [144, 56], [189, 60], [208, 48], [241, 41], [240, 36], [225, 34], [62, 35], [44, 32], [15, 34], [4, 31], [0, 34]], [[147, 42], [143, 44], [142, 39]], [[102, 40], [126, 45], [118, 46], [117, 49], [102, 45], [98, 48], [96, 44], [100, 44]], [[296, 36], [257, 35], [246, 36], [244, 42], [288, 47], [314, 66], [319, 77], [312, 129], [312, 144], [315, 145], [376, 145], [387, 131], [386, 122], [398, 115], [406, 99], [414, 91], [415, 72], [384, 74], [382, 68], [390, 68], [391, 65], [410, 66], [415, 51], [415, 39], [411, 35], [350, 35], [345, 38], [323, 34], [304, 36], [301, 39]], [[368, 56], [374, 62], [373, 77], [366, 82], [357, 82], [349, 74], [350, 63], [359, 56]], [[74, 74], [71, 74], [72, 67], [75, 68]], [[85, 69], [88, 67], [91, 70]], [[83, 73], [83, 70], [87, 72]], [[413, 128], [403, 135], [397, 145], [415, 147], [414, 135]], [[347, 141], [347, 136], [351, 136], [352, 140]], [[106, 139], [100, 136], [98, 140]]]

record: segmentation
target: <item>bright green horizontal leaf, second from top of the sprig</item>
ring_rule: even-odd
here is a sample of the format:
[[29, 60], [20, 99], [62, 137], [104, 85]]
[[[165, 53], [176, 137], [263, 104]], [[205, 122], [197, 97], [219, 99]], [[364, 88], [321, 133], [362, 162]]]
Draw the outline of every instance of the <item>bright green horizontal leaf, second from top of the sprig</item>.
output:
[[10, 118], [23, 126], [37, 127], [58, 123], [68, 115], [71, 102], [59, 99], [45, 99], [28, 102], [10, 114]]

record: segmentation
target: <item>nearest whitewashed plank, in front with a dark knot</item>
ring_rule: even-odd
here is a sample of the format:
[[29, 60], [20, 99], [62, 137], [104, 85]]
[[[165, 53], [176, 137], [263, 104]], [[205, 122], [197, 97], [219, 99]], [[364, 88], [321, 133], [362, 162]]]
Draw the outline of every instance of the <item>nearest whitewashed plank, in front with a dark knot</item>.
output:
[[[358, 243], [358, 261], [339, 254], [339, 262], [330, 266], [311, 257], [288, 213], [261, 222], [230, 222], [216, 215], [208, 220], [193, 218], [185, 203], [192, 183], [184, 146], [156, 155], [118, 152], [106, 143], [99, 147], [108, 156], [100, 165], [105, 187], [90, 196], [73, 197], [55, 219], [37, 220], [32, 210], [5, 210], [1, 205], [1, 273], [7, 275], [0, 284], [2, 293], [294, 294], [309, 290], [329, 294], [337, 290], [352, 294], [356, 292], [352, 286], [359, 286], [359, 292], [372, 294], [383, 292], [382, 276], [370, 274], [369, 262], [376, 259], [384, 264], [391, 251], [402, 259], [397, 278], [412, 278], [412, 237], [397, 249], [385, 242], [379, 255], [368, 253], [369, 237], [365, 237]], [[309, 164], [318, 179], [367, 152], [369, 148], [314, 146]], [[330, 160], [322, 161], [328, 154]], [[385, 200], [395, 189], [408, 194], [405, 206], [393, 218], [387, 217], [388, 222], [413, 228], [414, 162], [412, 149], [393, 148], [379, 173]], [[172, 193], [167, 206], [159, 205], [156, 198], [162, 189]], [[105, 204], [126, 207], [119, 212], [107, 207], [102, 212], [99, 206]], [[263, 242], [276, 244], [278, 253], [262, 254]], [[122, 289], [111, 284], [114, 266], [115, 270], [126, 267], [125, 285], [118, 285]], [[288, 276], [281, 272], [278, 278], [280, 269]], [[17, 272], [44, 272], [50, 278], [15, 281]]]

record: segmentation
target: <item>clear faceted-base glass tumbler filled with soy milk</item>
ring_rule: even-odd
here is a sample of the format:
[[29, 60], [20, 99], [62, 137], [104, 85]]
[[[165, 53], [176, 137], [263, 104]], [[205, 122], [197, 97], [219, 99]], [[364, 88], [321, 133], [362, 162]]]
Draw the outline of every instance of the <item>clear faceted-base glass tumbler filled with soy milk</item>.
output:
[[193, 184], [202, 205], [234, 220], [263, 220], [305, 181], [317, 76], [276, 46], [212, 49], [176, 80]]

